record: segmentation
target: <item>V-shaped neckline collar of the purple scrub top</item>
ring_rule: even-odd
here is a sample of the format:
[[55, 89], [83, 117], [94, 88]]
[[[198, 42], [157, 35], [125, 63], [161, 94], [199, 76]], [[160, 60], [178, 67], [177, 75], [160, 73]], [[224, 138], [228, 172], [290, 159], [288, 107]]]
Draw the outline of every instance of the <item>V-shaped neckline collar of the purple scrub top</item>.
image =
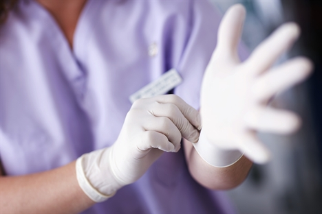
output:
[[72, 85], [78, 99], [83, 97], [85, 90], [87, 43], [89, 36], [93, 33], [96, 23], [95, 16], [98, 14], [102, 2], [87, 0], [85, 3], [73, 36], [74, 49], [71, 49], [65, 34], [52, 14], [36, 1], [23, 1], [23, 3], [27, 3], [27, 5], [23, 5], [23, 11], [28, 12], [28, 17], [41, 22], [42, 27], [45, 28], [46, 37], [56, 52], [58, 63], [63, 63], [61, 71], [69, 84]]

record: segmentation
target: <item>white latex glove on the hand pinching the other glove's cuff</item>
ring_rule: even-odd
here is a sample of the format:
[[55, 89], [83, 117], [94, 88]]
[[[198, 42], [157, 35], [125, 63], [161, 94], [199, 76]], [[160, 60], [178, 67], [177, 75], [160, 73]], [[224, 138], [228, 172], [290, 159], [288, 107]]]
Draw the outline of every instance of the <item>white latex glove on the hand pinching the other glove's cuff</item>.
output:
[[78, 158], [78, 183], [95, 202], [106, 200], [138, 180], [163, 152], [178, 152], [182, 137], [197, 142], [200, 126], [199, 112], [176, 95], [139, 99], [114, 145]]

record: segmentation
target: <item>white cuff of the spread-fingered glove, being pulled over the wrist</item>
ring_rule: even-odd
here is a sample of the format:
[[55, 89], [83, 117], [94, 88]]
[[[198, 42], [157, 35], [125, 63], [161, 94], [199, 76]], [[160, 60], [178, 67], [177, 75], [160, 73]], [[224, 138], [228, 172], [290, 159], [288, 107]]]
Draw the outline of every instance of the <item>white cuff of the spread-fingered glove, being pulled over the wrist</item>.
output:
[[193, 146], [202, 159], [214, 167], [229, 167], [244, 155], [239, 150], [224, 150], [217, 147], [206, 139], [202, 131], [200, 132], [199, 141], [193, 143]]

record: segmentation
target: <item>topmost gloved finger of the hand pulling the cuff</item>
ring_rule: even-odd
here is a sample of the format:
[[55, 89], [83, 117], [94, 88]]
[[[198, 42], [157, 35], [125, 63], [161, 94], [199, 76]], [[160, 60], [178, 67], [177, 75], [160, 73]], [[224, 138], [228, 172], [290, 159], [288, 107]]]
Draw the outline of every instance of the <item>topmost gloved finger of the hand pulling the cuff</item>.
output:
[[199, 112], [189, 104], [186, 104], [186, 102], [184, 102], [184, 100], [177, 95], [162, 95], [153, 97], [153, 99], [160, 104], [175, 104], [175, 106], [177, 106], [182, 112], [182, 115], [184, 115], [184, 117], [186, 117], [186, 119], [188, 119], [188, 121], [195, 126], [195, 128], [201, 130]]

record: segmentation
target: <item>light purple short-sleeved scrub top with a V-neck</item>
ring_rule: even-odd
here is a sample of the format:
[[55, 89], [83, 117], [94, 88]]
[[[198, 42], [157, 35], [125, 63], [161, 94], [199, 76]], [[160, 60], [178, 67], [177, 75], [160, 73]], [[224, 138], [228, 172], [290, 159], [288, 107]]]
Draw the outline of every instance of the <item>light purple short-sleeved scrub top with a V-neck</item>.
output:
[[[129, 95], [169, 69], [183, 78], [174, 93], [199, 108], [218, 25], [207, 1], [87, 1], [71, 50], [49, 12], [34, 1], [19, 3], [0, 34], [6, 174], [54, 169], [112, 145]], [[85, 213], [233, 212], [222, 192], [193, 180], [180, 150]]]

